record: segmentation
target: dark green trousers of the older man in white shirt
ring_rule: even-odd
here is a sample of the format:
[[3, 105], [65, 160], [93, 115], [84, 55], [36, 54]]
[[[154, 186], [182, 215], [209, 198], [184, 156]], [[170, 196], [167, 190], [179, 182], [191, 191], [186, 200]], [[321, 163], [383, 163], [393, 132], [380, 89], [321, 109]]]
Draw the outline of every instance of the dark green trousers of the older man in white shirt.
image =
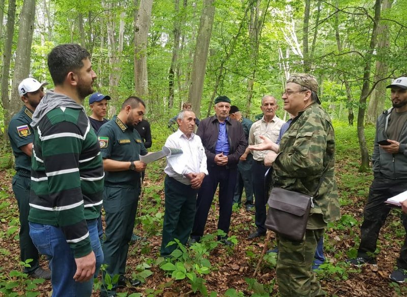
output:
[[164, 180], [165, 214], [162, 229], [161, 256], [167, 256], [178, 246], [167, 244], [178, 239], [183, 245], [187, 244], [194, 223], [196, 194], [198, 190], [185, 185], [172, 177]]

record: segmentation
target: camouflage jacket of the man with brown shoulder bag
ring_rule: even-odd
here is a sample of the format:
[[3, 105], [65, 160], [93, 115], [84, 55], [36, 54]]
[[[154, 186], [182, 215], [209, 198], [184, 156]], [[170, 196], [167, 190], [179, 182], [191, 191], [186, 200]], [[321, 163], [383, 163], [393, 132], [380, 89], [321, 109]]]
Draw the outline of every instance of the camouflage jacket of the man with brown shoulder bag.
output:
[[331, 119], [314, 103], [299, 113], [282, 136], [273, 166], [274, 186], [313, 195], [329, 162], [311, 208], [311, 214], [323, 214], [326, 223], [340, 217], [334, 154], [335, 135]]

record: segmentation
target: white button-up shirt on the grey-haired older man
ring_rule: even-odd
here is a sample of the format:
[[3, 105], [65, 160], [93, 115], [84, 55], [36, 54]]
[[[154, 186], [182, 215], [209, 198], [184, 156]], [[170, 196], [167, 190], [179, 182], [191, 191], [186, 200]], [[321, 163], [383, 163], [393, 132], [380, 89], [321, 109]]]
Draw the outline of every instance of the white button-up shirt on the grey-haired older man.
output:
[[183, 151], [180, 155], [167, 157], [167, 166], [164, 172], [169, 177], [185, 185], [190, 185], [191, 181], [185, 177], [186, 174], [203, 172], [208, 175], [207, 156], [199, 136], [192, 133], [191, 137], [187, 138], [178, 129], [168, 136], [165, 146], [182, 149]]

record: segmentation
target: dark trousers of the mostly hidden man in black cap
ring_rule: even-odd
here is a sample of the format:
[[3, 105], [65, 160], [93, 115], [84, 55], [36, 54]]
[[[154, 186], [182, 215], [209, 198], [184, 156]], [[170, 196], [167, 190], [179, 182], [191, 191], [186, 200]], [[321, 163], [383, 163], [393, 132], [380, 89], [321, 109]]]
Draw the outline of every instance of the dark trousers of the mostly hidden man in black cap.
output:
[[253, 204], [253, 181], [251, 177], [252, 163], [252, 154], [248, 155], [246, 161], [239, 161], [233, 203], [242, 203], [242, 194], [244, 188], [246, 193], [245, 205]]

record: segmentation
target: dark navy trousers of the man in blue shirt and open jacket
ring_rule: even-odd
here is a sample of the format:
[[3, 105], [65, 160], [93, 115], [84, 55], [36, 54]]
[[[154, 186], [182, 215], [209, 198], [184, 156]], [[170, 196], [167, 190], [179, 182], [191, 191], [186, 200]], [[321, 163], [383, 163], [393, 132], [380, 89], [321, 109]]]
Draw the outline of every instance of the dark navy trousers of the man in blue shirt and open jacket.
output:
[[196, 213], [191, 238], [199, 240], [203, 235], [208, 213], [211, 208], [213, 196], [219, 184], [219, 220], [218, 229], [224, 233], [229, 232], [230, 216], [232, 214], [233, 194], [236, 186], [236, 167], [211, 166], [208, 168], [209, 175], [203, 179], [198, 190], [196, 200]]

